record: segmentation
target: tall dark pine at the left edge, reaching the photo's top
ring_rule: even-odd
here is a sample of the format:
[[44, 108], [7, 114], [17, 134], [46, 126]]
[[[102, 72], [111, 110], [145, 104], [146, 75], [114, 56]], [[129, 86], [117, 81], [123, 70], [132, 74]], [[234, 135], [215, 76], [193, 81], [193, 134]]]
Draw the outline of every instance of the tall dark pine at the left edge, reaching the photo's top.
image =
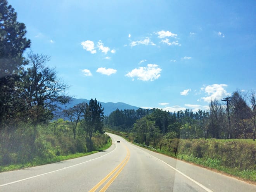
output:
[[[24, 36], [24, 23], [17, 22], [17, 13], [6, 0], [0, 0], [0, 126], [17, 121], [16, 114], [22, 101], [19, 87], [22, 66], [27, 61], [22, 57], [30, 40]], [[10, 126], [10, 127], [13, 127]]]

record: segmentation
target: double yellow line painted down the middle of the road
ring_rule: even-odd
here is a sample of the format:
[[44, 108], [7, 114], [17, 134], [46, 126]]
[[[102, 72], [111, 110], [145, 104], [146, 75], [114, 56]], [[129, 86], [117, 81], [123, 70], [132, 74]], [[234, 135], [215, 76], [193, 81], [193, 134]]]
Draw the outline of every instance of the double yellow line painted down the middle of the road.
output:
[[112, 178], [109, 179], [109, 181], [106, 183], [106, 185], [104, 185], [104, 187], [102, 187], [102, 189], [100, 190], [100, 192], [105, 192], [107, 190], [107, 188], [111, 185], [111, 183], [117, 178], [119, 173], [121, 173], [121, 171], [125, 167], [126, 163], [130, 159], [130, 150], [127, 147], [125, 147], [125, 148], [127, 150], [125, 159], [118, 166], [116, 166], [116, 168], [114, 168], [114, 170], [112, 170], [106, 177], [104, 177], [99, 183], [97, 183], [97, 185], [95, 185], [91, 190], [89, 190], [89, 192], [95, 192], [95, 190], [97, 190], [104, 182], [106, 182], [106, 180], [108, 180], [116, 172], [112, 176]]

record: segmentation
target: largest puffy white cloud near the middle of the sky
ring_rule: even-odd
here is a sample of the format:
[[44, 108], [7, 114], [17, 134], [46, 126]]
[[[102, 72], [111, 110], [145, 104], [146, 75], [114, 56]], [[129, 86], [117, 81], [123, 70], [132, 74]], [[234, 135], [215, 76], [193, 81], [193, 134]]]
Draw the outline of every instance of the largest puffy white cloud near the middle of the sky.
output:
[[131, 72], [127, 73], [125, 76], [134, 78], [137, 77], [138, 80], [142, 81], [154, 81], [158, 79], [161, 75], [162, 69], [156, 64], [147, 64], [147, 67], [139, 67], [133, 69]]

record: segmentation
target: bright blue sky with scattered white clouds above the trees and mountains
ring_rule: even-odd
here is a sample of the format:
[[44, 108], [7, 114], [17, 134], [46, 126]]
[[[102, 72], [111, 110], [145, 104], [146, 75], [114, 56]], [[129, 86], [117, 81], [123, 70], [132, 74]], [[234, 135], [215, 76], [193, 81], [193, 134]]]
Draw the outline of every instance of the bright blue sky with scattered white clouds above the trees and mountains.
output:
[[256, 91], [254, 0], [8, 2], [77, 99], [177, 112]]

